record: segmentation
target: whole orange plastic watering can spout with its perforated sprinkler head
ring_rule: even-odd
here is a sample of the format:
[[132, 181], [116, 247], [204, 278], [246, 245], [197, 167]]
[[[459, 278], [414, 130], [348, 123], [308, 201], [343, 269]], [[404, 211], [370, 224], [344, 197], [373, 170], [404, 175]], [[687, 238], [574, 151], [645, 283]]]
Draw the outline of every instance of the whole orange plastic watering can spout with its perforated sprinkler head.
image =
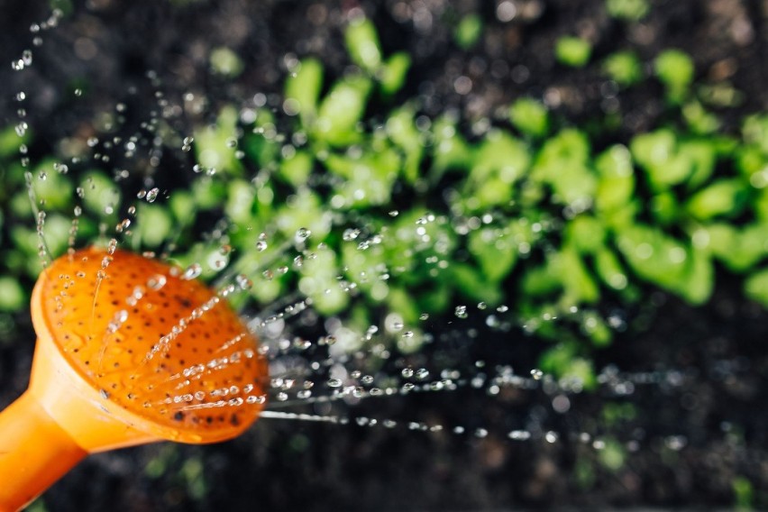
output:
[[29, 389], [0, 413], [0, 512], [88, 453], [231, 439], [265, 402], [255, 337], [223, 297], [160, 261], [96, 248], [62, 256], [35, 285], [32, 322]]

